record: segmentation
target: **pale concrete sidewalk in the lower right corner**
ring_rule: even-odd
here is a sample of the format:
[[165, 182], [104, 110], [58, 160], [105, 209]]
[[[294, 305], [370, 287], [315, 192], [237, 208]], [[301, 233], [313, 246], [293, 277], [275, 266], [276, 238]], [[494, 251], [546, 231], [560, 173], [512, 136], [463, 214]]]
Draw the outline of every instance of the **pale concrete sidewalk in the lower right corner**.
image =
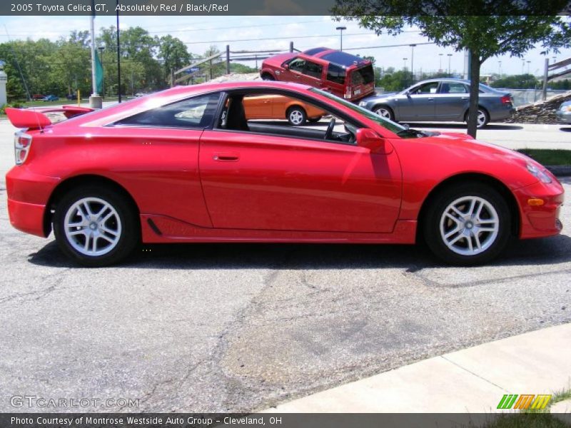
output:
[[264, 412], [490, 413], [503, 394], [571, 387], [571, 324], [433, 357]]

